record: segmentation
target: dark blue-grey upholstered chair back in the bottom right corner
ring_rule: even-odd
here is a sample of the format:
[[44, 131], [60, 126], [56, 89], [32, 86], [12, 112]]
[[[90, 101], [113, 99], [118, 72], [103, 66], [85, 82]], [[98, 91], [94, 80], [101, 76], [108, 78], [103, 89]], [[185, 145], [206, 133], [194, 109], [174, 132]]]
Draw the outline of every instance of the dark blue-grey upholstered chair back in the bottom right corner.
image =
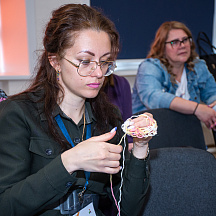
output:
[[215, 216], [216, 159], [190, 147], [150, 150], [150, 188], [140, 216]]

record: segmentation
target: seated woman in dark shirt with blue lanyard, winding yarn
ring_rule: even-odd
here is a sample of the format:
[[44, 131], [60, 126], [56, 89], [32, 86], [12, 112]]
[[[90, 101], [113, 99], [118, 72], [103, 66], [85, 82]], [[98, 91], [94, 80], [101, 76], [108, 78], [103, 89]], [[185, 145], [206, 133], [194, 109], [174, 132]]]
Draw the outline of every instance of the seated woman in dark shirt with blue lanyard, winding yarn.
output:
[[135, 137], [125, 160], [119, 110], [101, 91], [119, 50], [114, 24], [87, 5], [63, 5], [43, 45], [30, 87], [0, 103], [1, 215], [101, 216], [107, 198], [122, 216], [138, 215], [151, 137]]

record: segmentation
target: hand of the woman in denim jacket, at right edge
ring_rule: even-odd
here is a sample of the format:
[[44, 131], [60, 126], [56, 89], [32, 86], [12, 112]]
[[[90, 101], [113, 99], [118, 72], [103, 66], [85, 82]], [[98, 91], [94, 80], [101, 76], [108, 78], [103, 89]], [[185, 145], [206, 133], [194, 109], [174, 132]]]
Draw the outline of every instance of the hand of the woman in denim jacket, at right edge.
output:
[[205, 104], [199, 104], [195, 112], [196, 117], [205, 123], [209, 129], [216, 126], [216, 111]]

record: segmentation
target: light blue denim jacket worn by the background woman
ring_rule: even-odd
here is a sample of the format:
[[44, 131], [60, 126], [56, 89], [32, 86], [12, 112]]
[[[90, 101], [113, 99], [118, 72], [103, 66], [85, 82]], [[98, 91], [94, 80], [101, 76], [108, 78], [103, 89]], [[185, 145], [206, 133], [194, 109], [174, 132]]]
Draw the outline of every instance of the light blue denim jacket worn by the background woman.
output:
[[[210, 104], [216, 100], [216, 83], [204, 60], [195, 60], [195, 72], [186, 68], [190, 100]], [[133, 113], [155, 108], [169, 108], [176, 97], [178, 85], [172, 84], [170, 74], [159, 59], [145, 59], [138, 68], [133, 87]]]

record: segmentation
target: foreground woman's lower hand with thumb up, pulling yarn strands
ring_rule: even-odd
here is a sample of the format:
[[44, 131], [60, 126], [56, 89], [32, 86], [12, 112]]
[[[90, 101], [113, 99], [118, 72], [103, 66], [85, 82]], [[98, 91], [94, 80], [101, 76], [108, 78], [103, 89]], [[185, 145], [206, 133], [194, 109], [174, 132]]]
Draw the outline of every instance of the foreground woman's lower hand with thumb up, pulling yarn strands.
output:
[[110, 144], [116, 132], [92, 137], [62, 153], [62, 163], [71, 174], [76, 170], [115, 174], [120, 171], [121, 145]]

